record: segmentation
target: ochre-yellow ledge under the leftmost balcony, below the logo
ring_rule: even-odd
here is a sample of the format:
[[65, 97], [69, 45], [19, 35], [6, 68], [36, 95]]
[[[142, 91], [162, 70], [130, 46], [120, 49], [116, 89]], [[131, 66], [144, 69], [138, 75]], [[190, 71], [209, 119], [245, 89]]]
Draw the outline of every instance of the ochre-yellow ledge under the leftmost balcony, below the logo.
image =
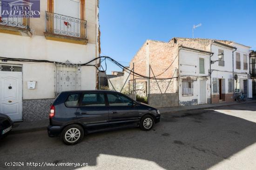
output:
[[29, 28], [18, 28], [7, 25], [0, 25], [0, 32], [6, 34], [20, 35], [20, 36], [32, 36]]

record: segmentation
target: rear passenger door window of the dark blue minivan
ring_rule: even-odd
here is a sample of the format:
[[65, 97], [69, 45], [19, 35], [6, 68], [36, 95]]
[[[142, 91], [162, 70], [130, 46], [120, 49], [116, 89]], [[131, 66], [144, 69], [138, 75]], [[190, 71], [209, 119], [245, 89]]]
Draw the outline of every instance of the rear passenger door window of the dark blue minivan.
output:
[[104, 93], [83, 94], [81, 106], [106, 106]]

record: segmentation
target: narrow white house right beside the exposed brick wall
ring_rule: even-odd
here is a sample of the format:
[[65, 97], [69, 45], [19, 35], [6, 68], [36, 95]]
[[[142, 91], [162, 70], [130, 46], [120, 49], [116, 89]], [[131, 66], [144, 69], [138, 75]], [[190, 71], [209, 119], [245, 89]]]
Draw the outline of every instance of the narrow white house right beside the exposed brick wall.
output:
[[213, 53], [179, 47], [179, 105], [210, 103], [210, 56]]

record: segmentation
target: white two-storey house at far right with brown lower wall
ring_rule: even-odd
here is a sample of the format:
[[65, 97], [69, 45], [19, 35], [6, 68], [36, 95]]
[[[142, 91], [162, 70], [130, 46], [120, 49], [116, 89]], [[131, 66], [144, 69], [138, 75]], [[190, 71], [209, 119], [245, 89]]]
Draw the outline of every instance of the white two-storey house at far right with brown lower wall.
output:
[[[249, 46], [204, 38], [172, 38], [169, 43], [210, 51], [211, 103], [234, 101], [241, 92], [250, 98]], [[235, 80], [235, 77], [238, 77]]]

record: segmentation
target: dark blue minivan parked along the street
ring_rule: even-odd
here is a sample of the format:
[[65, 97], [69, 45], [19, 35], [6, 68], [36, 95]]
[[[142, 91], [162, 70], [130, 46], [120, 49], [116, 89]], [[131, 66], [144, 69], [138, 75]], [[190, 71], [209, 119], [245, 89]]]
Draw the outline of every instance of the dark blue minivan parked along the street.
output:
[[65, 91], [52, 104], [49, 120], [49, 137], [61, 135], [65, 144], [74, 145], [93, 132], [128, 127], [148, 131], [160, 121], [160, 112], [114, 91]]

